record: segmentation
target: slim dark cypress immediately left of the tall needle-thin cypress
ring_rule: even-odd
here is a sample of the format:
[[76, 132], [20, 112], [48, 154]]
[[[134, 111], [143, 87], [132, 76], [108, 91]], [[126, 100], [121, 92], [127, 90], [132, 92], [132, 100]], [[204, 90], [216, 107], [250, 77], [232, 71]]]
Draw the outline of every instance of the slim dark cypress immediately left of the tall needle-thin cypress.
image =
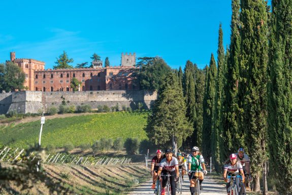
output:
[[216, 62], [213, 53], [211, 54], [210, 68], [208, 71], [208, 78], [204, 104], [203, 104], [203, 132], [202, 132], [202, 152], [206, 159], [211, 157], [211, 129], [212, 129], [212, 116], [215, 101], [215, 78], [217, 74]]

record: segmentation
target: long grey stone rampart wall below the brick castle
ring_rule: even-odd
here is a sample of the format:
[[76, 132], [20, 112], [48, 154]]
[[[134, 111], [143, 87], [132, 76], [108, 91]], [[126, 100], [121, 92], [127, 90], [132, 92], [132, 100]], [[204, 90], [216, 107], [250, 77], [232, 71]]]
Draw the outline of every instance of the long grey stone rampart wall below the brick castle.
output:
[[11, 111], [18, 113], [38, 113], [47, 111], [50, 107], [58, 108], [62, 103], [66, 105], [89, 105], [95, 110], [98, 107], [123, 106], [137, 109], [141, 103], [145, 109], [150, 109], [156, 100], [156, 92], [144, 90], [117, 90], [117, 91], [18, 91], [12, 93], [0, 93], [0, 114]]

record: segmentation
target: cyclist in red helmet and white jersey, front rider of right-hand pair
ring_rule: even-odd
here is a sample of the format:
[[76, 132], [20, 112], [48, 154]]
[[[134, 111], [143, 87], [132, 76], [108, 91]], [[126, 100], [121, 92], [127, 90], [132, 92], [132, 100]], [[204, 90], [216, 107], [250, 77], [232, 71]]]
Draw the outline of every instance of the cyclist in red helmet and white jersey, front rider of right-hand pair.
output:
[[[224, 181], [227, 182], [226, 184], [226, 190], [227, 190], [227, 194], [230, 195], [231, 194], [231, 185], [229, 179], [227, 178], [227, 173], [229, 175], [233, 174], [233, 173], [241, 173], [242, 176], [242, 182], [244, 183], [244, 173], [243, 173], [243, 169], [242, 169], [242, 165], [240, 164], [240, 161], [237, 161], [237, 155], [236, 154], [231, 154], [229, 156], [230, 160], [228, 164], [224, 165], [224, 171], [223, 171], [223, 178]], [[237, 177], [235, 179], [235, 183], [239, 192], [239, 178]]]

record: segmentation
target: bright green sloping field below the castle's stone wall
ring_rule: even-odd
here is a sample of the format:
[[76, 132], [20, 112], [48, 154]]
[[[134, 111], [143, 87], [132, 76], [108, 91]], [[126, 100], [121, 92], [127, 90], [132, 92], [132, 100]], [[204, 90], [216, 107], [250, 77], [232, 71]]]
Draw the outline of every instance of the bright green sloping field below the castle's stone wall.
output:
[[[101, 138], [122, 137], [147, 139], [143, 130], [147, 122], [147, 113], [114, 112], [55, 118], [46, 120], [43, 126], [42, 146], [63, 147], [67, 143], [74, 146], [92, 144]], [[38, 143], [40, 121], [1, 125], [0, 141], [7, 146], [28, 148]]]

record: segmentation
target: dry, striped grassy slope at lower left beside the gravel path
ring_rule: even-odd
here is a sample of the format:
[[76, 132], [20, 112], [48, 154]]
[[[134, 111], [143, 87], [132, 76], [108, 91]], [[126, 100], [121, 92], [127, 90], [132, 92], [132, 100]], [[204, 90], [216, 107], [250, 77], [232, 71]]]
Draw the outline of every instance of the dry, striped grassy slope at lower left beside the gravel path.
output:
[[[70, 194], [125, 194], [150, 178], [149, 174], [145, 174], [145, 164], [97, 167], [56, 164], [45, 165], [44, 170], [49, 177], [61, 181], [70, 190]], [[34, 184], [29, 191], [23, 191], [14, 185], [11, 187], [18, 192], [15, 194], [49, 194], [42, 183]]]

